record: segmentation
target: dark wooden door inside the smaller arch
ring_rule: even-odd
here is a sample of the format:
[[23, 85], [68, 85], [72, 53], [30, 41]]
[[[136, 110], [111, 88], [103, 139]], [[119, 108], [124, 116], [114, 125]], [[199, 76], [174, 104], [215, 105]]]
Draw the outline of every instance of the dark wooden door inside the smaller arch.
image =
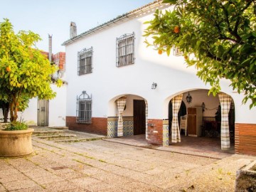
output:
[[144, 100], [134, 100], [134, 135], [146, 132], [146, 105]]

